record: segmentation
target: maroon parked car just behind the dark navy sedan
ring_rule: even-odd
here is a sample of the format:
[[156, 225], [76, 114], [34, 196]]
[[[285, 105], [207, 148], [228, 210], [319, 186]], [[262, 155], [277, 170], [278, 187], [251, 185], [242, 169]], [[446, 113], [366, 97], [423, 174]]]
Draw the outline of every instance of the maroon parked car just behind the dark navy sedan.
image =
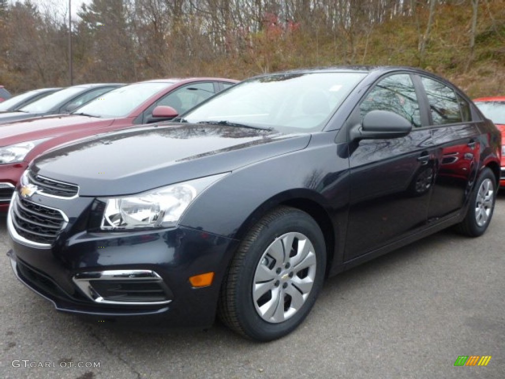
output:
[[166, 121], [236, 82], [223, 78], [144, 81], [113, 89], [70, 115], [0, 125], [0, 212], [7, 212], [21, 174], [42, 152], [82, 137]]

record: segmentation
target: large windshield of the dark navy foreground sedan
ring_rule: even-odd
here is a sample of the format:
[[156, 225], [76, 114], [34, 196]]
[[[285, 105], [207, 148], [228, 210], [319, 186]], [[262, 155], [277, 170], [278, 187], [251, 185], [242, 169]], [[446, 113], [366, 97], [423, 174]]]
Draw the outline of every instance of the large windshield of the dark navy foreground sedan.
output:
[[311, 72], [252, 78], [182, 116], [198, 123], [243, 124], [283, 133], [322, 130], [365, 73]]

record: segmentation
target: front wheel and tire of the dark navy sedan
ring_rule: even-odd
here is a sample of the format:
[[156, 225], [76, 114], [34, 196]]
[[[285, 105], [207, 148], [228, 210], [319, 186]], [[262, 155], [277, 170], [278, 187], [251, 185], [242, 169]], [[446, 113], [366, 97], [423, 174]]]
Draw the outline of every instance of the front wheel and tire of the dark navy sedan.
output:
[[[286, 256], [284, 246], [290, 243]], [[308, 247], [307, 255], [302, 251], [304, 246]], [[277, 257], [284, 256], [284, 262], [274, 258], [274, 253], [279, 253], [275, 247], [281, 247], [283, 255]], [[314, 259], [315, 265], [311, 263]], [[309, 264], [312, 265], [303, 268]], [[311, 311], [323, 286], [325, 269], [326, 246], [317, 222], [298, 209], [279, 207], [248, 231], [233, 257], [221, 288], [219, 317], [229, 328], [250, 339], [265, 342], [284, 337]], [[263, 275], [268, 275], [268, 280]], [[299, 285], [302, 281], [304, 287]], [[311, 281], [312, 287], [304, 294]], [[263, 285], [270, 290], [255, 300]], [[268, 306], [274, 303], [282, 304], [282, 308]], [[262, 314], [261, 307], [269, 311]], [[273, 309], [276, 311], [270, 316]]]

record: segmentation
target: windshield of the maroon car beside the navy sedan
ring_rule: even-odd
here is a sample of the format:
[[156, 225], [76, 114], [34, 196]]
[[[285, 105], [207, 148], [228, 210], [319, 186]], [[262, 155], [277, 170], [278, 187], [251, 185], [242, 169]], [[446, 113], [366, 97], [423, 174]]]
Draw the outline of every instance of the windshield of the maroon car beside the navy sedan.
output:
[[125, 117], [151, 96], [172, 84], [173, 82], [165, 81], [125, 85], [104, 93], [72, 113], [104, 118]]

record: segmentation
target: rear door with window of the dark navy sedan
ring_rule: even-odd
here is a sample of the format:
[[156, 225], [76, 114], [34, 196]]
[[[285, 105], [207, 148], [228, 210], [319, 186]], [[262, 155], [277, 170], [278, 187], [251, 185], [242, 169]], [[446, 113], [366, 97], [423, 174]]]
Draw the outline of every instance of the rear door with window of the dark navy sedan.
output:
[[437, 222], [455, 215], [470, 196], [479, 167], [480, 131], [469, 103], [454, 88], [431, 77], [420, 76], [420, 81], [436, 157], [428, 220]]

